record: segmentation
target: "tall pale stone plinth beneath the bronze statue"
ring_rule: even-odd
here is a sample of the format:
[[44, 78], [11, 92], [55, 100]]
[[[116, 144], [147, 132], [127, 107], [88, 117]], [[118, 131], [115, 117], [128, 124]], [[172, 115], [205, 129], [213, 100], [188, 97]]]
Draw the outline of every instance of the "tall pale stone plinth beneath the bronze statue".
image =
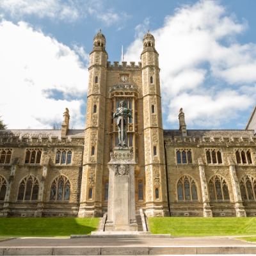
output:
[[134, 167], [130, 148], [114, 148], [109, 167], [108, 220], [105, 231], [137, 231]]

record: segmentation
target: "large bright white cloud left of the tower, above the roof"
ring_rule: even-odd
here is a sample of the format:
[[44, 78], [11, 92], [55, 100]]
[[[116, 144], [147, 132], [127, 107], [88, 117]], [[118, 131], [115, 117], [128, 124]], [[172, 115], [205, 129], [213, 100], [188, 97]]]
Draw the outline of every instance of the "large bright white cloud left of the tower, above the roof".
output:
[[71, 124], [84, 127], [88, 71], [76, 52], [25, 22], [3, 20], [0, 38], [0, 116], [8, 128], [51, 128], [65, 108]]

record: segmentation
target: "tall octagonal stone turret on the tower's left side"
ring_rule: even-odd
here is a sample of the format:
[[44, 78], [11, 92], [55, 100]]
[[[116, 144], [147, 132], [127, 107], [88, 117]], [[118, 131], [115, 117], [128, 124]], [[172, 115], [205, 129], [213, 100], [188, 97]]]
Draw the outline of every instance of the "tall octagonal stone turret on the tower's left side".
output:
[[[101, 30], [93, 38], [90, 52], [84, 157], [79, 217], [102, 215], [102, 169], [106, 106], [106, 73], [108, 53]], [[96, 189], [97, 188], [97, 191]]]

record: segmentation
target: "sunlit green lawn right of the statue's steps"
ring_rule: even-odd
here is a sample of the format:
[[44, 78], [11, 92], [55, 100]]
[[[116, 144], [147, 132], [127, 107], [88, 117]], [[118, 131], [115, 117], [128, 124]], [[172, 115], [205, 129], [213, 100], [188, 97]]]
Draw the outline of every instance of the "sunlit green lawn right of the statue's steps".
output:
[[172, 236], [256, 235], [256, 218], [148, 218], [152, 234]]

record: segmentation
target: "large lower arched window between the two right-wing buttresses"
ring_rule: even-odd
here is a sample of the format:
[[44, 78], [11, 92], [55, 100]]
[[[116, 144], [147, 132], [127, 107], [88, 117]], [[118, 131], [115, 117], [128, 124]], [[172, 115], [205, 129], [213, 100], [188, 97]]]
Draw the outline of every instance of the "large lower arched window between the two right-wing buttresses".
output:
[[215, 175], [209, 181], [211, 200], [229, 200], [228, 184], [220, 175]]

